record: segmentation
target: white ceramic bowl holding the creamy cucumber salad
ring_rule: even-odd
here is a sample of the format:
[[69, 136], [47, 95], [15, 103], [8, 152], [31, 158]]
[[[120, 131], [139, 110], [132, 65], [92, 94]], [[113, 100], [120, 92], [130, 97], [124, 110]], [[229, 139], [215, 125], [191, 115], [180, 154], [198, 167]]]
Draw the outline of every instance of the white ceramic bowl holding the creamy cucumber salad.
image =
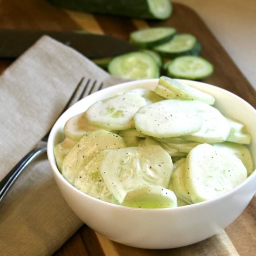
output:
[[[256, 192], [256, 171], [245, 182], [216, 199], [175, 209], [136, 209], [103, 202], [70, 185], [57, 169], [53, 148], [65, 122], [85, 111], [95, 101], [132, 88], [154, 90], [158, 79], [134, 81], [106, 88], [77, 102], [55, 123], [48, 140], [47, 155], [54, 178], [74, 213], [89, 227], [107, 238], [129, 246], [166, 249], [189, 245], [215, 235], [233, 222]], [[252, 135], [249, 146], [256, 163], [256, 110], [240, 97], [221, 88], [197, 81], [186, 81], [216, 98], [222, 114], [239, 119]]]

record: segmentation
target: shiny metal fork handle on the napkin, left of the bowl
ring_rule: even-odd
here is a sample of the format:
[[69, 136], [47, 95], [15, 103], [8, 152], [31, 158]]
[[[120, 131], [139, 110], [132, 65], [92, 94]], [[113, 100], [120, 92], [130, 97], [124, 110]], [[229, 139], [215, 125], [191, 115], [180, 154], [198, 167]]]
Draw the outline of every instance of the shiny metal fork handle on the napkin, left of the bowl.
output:
[[37, 156], [46, 152], [46, 150], [47, 148], [45, 146], [32, 149], [3, 178], [3, 180], [0, 182], [0, 202], [2, 201], [8, 190], [12, 187], [16, 179], [19, 177], [21, 172], [27, 167], [27, 165], [32, 162]]

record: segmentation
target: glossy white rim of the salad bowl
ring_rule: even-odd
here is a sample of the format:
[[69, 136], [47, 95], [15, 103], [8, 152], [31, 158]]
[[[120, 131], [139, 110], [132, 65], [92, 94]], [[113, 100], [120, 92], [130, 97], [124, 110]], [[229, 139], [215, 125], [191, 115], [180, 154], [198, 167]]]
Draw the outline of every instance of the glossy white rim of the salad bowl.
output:
[[[214, 88], [214, 90], [219, 90], [221, 91], [222, 93], [224, 94], [229, 94], [230, 96], [234, 97], [236, 100], [238, 101], [241, 101], [243, 104], [245, 104], [247, 107], [251, 108], [251, 110], [253, 112], [255, 112], [255, 115], [256, 115], [256, 109], [253, 108], [247, 101], [243, 100], [243, 98], [239, 97], [238, 95], [232, 93], [232, 92], [229, 92], [228, 90], [226, 89], [223, 89], [223, 88], [220, 88], [216, 85], [212, 85], [212, 84], [208, 84], [208, 83], [205, 83], [205, 82], [201, 82], [201, 81], [192, 81], [192, 80], [184, 80], [184, 79], [176, 79], [178, 81], [182, 81], [182, 82], [185, 82], [185, 83], [188, 83], [189, 85], [193, 86], [193, 85], [196, 85], [198, 84], [199, 86], [204, 86], [204, 87], [209, 87], [209, 88]], [[136, 81], [128, 81], [128, 82], [124, 82], [124, 83], [119, 83], [119, 84], [116, 84], [116, 85], [113, 85], [111, 87], [108, 87], [108, 88], [104, 88], [102, 89], [100, 92], [103, 92], [103, 91], [110, 91], [110, 90], [113, 90], [115, 91], [115, 88], [127, 88], [129, 87], [130, 85], [135, 85], [135, 84], [140, 84], [140, 83], [148, 83], [148, 82], [157, 82], [159, 81], [159, 79], [146, 79], [146, 80], [136, 80]], [[137, 87], [139, 88], [139, 87]], [[96, 92], [98, 93], [98, 92]], [[92, 94], [91, 94], [92, 95]], [[73, 108], [75, 105], [77, 105], [79, 102], [81, 101], [86, 101], [86, 99], [88, 99], [88, 97], [90, 97], [91, 95], [88, 95], [86, 96], [85, 98], [81, 99], [80, 101], [76, 102], [72, 107], [70, 108]], [[217, 201], [221, 201], [221, 200], [224, 200], [226, 197], [229, 197], [231, 194], [235, 193], [237, 190], [241, 189], [241, 187], [245, 186], [246, 183], [248, 183], [251, 179], [255, 179], [256, 178], [256, 169], [246, 178], [245, 181], [243, 181], [241, 184], [239, 184], [238, 186], [236, 186], [236, 188], [228, 191], [227, 193], [223, 194], [223, 195], [219, 195], [215, 198], [212, 198], [212, 199], [209, 199], [209, 200], [206, 200], [206, 201], [203, 201], [203, 202], [197, 202], [197, 203], [194, 203], [194, 204], [189, 204], [189, 205], [184, 205], [184, 206], [179, 206], [179, 207], [175, 207], [175, 208], [158, 208], [158, 209], [146, 209], [146, 208], [135, 208], [135, 207], [128, 207], [128, 206], [122, 206], [122, 205], [118, 205], [118, 204], [114, 204], [114, 203], [111, 203], [111, 202], [106, 202], [106, 201], [102, 201], [98, 198], [95, 198], [91, 195], [87, 195], [85, 193], [83, 193], [82, 191], [80, 191], [79, 189], [76, 189], [72, 184], [70, 184], [64, 177], [63, 175], [61, 175], [59, 169], [57, 168], [57, 165], [56, 165], [56, 162], [55, 162], [55, 158], [54, 158], [54, 153], [53, 153], [53, 146], [54, 145], [54, 138], [55, 138], [55, 135], [56, 135], [56, 132], [57, 130], [55, 131], [56, 127], [57, 127], [57, 124], [59, 123], [59, 120], [61, 119], [61, 117], [63, 115], [65, 115], [65, 113], [67, 111], [69, 111], [68, 108], [58, 119], [57, 121], [54, 123], [54, 126], [53, 128], [51, 129], [51, 132], [50, 132], [50, 135], [49, 135], [49, 138], [48, 138], [48, 141], [47, 141], [47, 157], [48, 157], [48, 162], [50, 163], [50, 166], [51, 166], [51, 169], [55, 175], [55, 177], [57, 177], [61, 182], [63, 182], [65, 184], [65, 186], [67, 186], [69, 189], [72, 189], [75, 193], [79, 193], [82, 197], [84, 198], [87, 198], [89, 200], [93, 200], [95, 202], [98, 202], [98, 203], [103, 203], [105, 204], [106, 206], [109, 206], [109, 207], [115, 207], [115, 208], [119, 208], [119, 209], [126, 209], [126, 210], [131, 210], [131, 211], [179, 211], [179, 210], [183, 210], [183, 209], [192, 209], [192, 208], [201, 208], [201, 207], [205, 207], [207, 206], [208, 204], [212, 204], [212, 203], [215, 203]], [[55, 131], [55, 132], [54, 132]], [[254, 163], [254, 167], [255, 167], [255, 163]]]

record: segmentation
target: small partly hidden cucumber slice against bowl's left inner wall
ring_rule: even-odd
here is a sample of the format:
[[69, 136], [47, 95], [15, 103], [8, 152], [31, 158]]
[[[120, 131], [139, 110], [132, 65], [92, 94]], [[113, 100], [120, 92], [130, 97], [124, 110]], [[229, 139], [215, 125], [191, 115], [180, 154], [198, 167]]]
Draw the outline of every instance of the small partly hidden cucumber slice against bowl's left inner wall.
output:
[[54, 146], [55, 161], [60, 172], [64, 157], [67, 155], [70, 149], [73, 148], [75, 143], [76, 141], [73, 141], [72, 139], [66, 137], [64, 141]]

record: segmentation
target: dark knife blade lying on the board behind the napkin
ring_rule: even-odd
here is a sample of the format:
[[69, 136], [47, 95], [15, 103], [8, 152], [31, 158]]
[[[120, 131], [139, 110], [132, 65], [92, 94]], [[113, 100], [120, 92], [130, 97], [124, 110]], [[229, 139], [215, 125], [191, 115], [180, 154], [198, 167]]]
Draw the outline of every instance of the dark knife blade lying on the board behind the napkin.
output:
[[0, 29], [0, 58], [17, 58], [41, 36], [48, 35], [86, 57], [114, 57], [136, 51], [137, 48], [117, 37], [80, 32]]

